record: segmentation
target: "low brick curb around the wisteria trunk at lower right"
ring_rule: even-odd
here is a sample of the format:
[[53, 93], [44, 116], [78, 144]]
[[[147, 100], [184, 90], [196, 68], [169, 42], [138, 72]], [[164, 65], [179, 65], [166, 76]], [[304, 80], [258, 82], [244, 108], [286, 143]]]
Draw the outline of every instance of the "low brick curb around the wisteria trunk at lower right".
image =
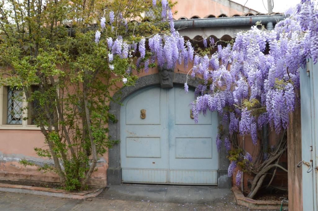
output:
[[[247, 198], [236, 186], [232, 187], [232, 191], [234, 194], [235, 201], [238, 205], [242, 205], [250, 209], [280, 209], [280, 201], [263, 201]], [[283, 209], [288, 209], [288, 203], [283, 203]]]

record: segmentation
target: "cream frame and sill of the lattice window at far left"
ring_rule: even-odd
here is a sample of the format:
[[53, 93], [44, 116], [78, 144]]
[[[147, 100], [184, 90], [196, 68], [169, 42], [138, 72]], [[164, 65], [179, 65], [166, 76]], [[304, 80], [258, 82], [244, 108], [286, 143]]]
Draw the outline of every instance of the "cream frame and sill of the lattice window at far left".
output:
[[[7, 124], [7, 103], [8, 103], [8, 87], [9, 86], [0, 86], [0, 129], [6, 130], [40, 130], [34, 124], [30, 123], [30, 115], [28, 114], [28, 109], [22, 111], [22, 124]], [[23, 93], [23, 97], [25, 95]], [[23, 108], [28, 106], [28, 102], [22, 102]]]

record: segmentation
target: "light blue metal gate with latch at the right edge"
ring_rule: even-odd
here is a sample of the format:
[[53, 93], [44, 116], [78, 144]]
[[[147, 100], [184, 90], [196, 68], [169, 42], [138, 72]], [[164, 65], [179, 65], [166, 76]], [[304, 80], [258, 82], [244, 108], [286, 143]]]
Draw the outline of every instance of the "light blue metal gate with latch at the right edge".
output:
[[317, 211], [318, 63], [300, 70], [303, 210]]

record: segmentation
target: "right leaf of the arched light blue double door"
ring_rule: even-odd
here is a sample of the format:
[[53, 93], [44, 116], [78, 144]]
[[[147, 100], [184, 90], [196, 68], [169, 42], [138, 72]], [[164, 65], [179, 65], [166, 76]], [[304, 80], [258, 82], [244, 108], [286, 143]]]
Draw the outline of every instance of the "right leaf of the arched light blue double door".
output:
[[169, 89], [168, 99], [169, 182], [217, 185], [217, 114], [200, 115], [195, 124], [190, 117], [193, 91], [175, 87]]

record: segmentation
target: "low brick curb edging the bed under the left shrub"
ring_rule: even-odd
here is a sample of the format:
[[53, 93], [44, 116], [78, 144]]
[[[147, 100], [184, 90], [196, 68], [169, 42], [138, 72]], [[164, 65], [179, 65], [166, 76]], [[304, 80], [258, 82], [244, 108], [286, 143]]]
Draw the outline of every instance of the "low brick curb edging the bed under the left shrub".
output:
[[92, 188], [84, 191], [66, 191], [55, 188], [41, 188], [25, 185], [11, 185], [0, 183], [0, 191], [12, 193], [25, 193], [34, 195], [55, 196], [69, 199], [87, 199], [98, 196], [104, 188]]

